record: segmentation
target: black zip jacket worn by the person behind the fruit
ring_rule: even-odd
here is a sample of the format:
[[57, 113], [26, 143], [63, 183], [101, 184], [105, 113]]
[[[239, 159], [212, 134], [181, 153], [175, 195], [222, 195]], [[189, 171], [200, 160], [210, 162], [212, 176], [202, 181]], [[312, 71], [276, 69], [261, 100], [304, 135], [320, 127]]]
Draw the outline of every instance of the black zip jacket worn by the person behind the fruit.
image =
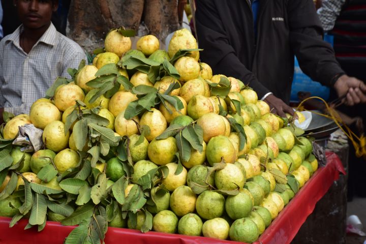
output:
[[[268, 92], [289, 102], [294, 54], [301, 70], [331, 85], [344, 73], [323, 30], [312, 0], [259, 0], [255, 38], [250, 0], [197, 0], [196, 31], [201, 61], [214, 74], [249, 83], [260, 99]], [[257, 39], [257, 40], [255, 40]]]

